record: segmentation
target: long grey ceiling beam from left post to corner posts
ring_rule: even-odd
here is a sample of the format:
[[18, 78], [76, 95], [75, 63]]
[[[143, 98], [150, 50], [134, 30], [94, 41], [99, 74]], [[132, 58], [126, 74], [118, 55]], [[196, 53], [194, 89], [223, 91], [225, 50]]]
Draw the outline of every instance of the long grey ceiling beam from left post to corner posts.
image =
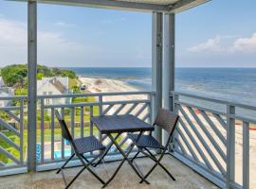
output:
[[[12, 0], [12, 1], [28, 1], [28, 0]], [[168, 11], [170, 5], [158, 5], [149, 3], [137, 3], [113, 0], [33, 0], [38, 3], [58, 4], [67, 6], [81, 6], [102, 9], [127, 9], [137, 11]]]

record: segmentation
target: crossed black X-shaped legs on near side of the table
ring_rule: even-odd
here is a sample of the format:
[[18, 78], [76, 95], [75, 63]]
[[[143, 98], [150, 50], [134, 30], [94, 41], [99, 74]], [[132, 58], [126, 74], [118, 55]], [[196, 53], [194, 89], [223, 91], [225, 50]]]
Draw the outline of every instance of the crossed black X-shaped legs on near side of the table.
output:
[[112, 143], [113, 143], [115, 146], [117, 146], [117, 149], [119, 150], [120, 154], [123, 156], [123, 160], [121, 161], [121, 163], [119, 163], [119, 166], [118, 166], [117, 170], [114, 172], [114, 174], [112, 175], [112, 177], [111, 177], [109, 180], [107, 180], [107, 181], [105, 182], [105, 184], [102, 186], [102, 188], [104, 188], [111, 180], [113, 180], [113, 179], [116, 177], [116, 175], [117, 175], [118, 172], [119, 172], [120, 167], [122, 166], [122, 164], [123, 164], [125, 161], [127, 161], [127, 162], [131, 165], [131, 167], [134, 169], [134, 171], [136, 172], [137, 176], [138, 176], [141, 180], [145, 181], [147, 184], [150, 183], [150, 182], [148, 182], [147, 180], [144, 179], [144, 176], [141, 175], [141, 174], [139, 173], [139, 171], [137, 171], [137, 168], [134, 166], [134, 164], [133, 164], [133, 163], [130, 161], [130, 159], [128, 158], [128, 157], [129, 157], [129, 154], [132, 152], [133, 148], [136, 146], [137, 141], [139, 140], [141, 134], [142, 134], [142, 132], [139, 132], [139, 135], [137, 136], [136, 142], [132, 144], [131, 148], [129, 149], [129, 151], [128, 151], [126, 154], [125, 154], [124, 151], [121, 149], [121, 147], [119, 146], [119, 144], [117, 143], [117, 141], [115, 140], [115, 138], [114, 138], [111, 134], [108, 134], [108, 137], [110, 138], [110, 140], [112, 141]]

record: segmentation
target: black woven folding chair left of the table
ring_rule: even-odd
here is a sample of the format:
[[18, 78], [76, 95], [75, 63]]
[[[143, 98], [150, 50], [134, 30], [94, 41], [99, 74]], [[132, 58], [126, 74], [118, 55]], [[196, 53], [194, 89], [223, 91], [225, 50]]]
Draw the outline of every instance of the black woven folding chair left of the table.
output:
[[[97, 138], [95, 138], [94, 136], [83, 137], [80, 139], [73, 139], [65, 122], [64, 122], [64, 119], [61, 117], [60, 113], [58, 111], [55, 111], [55, 114], [56, 114], [56, 117], [59, 120], [59, 123], [61, 125], [62, 136], [73, 147], [73, 151], [74, 151], [72, 153], [72, 155], [70, 156], [70, 158], [56, 172], [56, 174], [59, 174], [60, 172], [62, 172], [64, 183], [65, 183], [65, 188], [68, 188], [81, 175], [82, 171], [85, 169], [87, 169], [97, 180], [100, 180], [101, 183], [104, 184], [105, 182], [103, 180], [101, 180], [101, 178], [90, 167], [90, 165], [92, 165], [92, 163], [94, 163], [98, 158], [100, 158], [102, 153], [97, 155], [92, 161], [89, 161], [87, 158], [85, 158], [83, 154], [87, 153], [87, 152], [98, 151], [98, 150], [100, 152], [102, 152], [105, 149], [105, 146], [103, 146], [100, 143], [100, 141]], [[83, 167], [69, 183], [66, 183], [66, 180], [64, 178], [63, 169], [65, 168], [65, 165], [69, 161], [71, 161], [75, 156], [77, 156], [78, 159], [81, 161]]]

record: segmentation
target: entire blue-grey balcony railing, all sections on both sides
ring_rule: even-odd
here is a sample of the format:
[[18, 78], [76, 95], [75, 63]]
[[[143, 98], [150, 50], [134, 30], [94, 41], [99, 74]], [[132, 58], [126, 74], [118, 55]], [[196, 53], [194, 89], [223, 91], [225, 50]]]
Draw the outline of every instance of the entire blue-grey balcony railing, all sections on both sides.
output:
[[[123, 95], [135, 97], [129, 99], [115, 97]], [[155, 93], [152, 92], [38, 96], [38, 170], [49, 169], [51, 163], [63, 162], [70, 155], [70, 146], [61, 137], [54, 110], [62, 113], [74, 137], [97, 135], [103, 143], [107, 143], [106, 137], [101, 136], [101, 133], [93, 127], [90, 117], [101, 114], [132, 113], [142, 120], [151, 122], [154, 113], [152, 110], [154, 96]], [[46, 100], [74, 97], [94, 97], [94, 101], [84, 99], [82, 102], [62, 103], [59, 101], [54, 103]], [[171, 92], [170, 97], [174, 111], [178, 112], [181, 117], [174, 133], [171, 153], [221, 187], [249, 188], [249, 128], [252, 124], [256, 125], [255, 116], [253, 117], [256, 107], [178, 92]], [[0, 100], [11, 102], [6, 107], [0, 107], [0, 155], [1, 160], [3, 158], [8, 160], [0, 162], [0, 175], [25, 172], [27, 167], [27, 96], [0, 97]], [[15, 123], [15, 127], [11, 123]], [[237, 165], [235, 162], [237, 161], [235, 129], [239, 128], [238, 126], [242, 128], [241, 135], [243, 136], [242, 181], [237, 180], [235, 173]], [[123, 135], [119, 143], [126, 147], [129, 142]], [[114, 155], [115, 149], [112, 152]], [[15, 171], [11, 172], [10, 169], [15, 169]]]

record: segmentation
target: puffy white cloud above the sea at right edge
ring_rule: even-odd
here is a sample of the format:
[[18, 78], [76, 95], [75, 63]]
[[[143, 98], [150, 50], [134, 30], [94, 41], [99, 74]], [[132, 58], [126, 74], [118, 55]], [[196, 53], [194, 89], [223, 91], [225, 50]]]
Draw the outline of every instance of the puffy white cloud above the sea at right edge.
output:
[[[230, 41], [231, 40], [231, 41]], [[230, 42], [229, 42], [230, 41]], [[227, 44], [228, 43], [228, 44]], [[190, 52], [220, 52], [220, 53], [255, 53], [256, 33], [249, 38], [239, 38], [235, 35], [219, 36], [188, 48]]]

